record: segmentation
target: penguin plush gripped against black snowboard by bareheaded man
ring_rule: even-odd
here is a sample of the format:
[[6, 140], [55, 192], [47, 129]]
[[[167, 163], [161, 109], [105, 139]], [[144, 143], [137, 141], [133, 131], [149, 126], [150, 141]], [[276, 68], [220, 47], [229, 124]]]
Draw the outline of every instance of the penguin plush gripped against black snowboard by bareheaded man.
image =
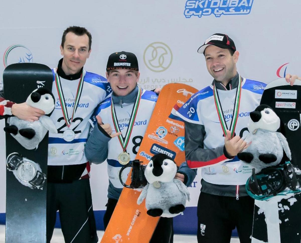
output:
[[4, 131], [10, 133], [24, 148], [36, 149], [48, 130], [57, 133], [53, 121], [47, 116], [54, 110], [54, 96], [48, 89], [38, 88], [29, 95], [26, 103], [43, 110], [45, 115], [33, 122], [21, 120], [16, 116], [9, 117], [9, 126], [6, 126]]

